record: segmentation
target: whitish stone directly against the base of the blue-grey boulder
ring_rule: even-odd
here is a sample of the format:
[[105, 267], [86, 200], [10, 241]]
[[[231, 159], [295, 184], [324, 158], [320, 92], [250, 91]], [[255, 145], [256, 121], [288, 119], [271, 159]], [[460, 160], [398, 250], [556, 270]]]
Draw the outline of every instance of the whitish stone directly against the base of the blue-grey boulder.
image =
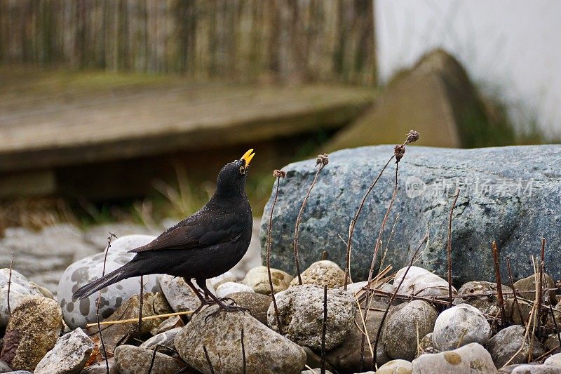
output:
[[[398, 286], [406, 271], [407, 267], [398, 270], [396, 279], [393, 280], [394, 287]], [[407, 276], [405, 276], [405, 280], [399, 288], [399, 293], [423, 297], [444, 296], [448, 295], [448, 282], [427, 269], [412, 266], [407, 271]], [[455, 293], [456, 289], [452, 287], [452, 294]]]

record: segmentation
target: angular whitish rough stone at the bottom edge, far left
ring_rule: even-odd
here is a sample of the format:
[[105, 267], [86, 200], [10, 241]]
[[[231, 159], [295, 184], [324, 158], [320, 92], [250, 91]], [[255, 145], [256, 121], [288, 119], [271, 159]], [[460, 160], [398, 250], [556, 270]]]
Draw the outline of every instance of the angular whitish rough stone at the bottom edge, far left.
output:
[[93, 351], [93, 340], [76, 328], [58, 338], [55, 347], [39, 361], [34, 374], [79, 373]]

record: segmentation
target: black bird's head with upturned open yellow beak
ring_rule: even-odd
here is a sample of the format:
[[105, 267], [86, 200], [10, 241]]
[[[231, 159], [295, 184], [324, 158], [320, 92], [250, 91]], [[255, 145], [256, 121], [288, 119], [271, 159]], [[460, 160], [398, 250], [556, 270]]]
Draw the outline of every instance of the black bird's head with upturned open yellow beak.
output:
[[224, 165], [218, 174], [215, 196], [245, 196], [245, 179], [253, 156], [255, 153], [250, 149], [241, 159]]

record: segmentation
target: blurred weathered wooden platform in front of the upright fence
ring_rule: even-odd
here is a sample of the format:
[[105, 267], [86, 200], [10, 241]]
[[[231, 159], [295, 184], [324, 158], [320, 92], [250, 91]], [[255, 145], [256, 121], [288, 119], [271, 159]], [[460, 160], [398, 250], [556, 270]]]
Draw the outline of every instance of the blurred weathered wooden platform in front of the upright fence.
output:
[[[196, 84], [177, 78], [154, 84], [122, 79], [119, 84], [109, 76], [105, 79], [113, 83], [104, 88], [104, 74], [39, 74], [26, 86], [1, 72], [0, 81], [8, 89], [0, 90], [0, 171], [337, 128], [358, 116], [374, 97], [370, 88]], [[21, 79], [27, 76], [20, 74]]]

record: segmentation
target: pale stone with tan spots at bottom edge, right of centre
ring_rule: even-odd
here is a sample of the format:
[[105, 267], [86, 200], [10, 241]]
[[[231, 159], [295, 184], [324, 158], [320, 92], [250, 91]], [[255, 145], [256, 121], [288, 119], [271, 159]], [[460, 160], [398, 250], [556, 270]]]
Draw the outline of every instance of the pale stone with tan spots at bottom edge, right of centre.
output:
[[423, 354], [412, 362], [412, 374], [471, 373], [495, 374], [496, 368], [489, 352], [478, 343], [464, 345], [453, 351]]

